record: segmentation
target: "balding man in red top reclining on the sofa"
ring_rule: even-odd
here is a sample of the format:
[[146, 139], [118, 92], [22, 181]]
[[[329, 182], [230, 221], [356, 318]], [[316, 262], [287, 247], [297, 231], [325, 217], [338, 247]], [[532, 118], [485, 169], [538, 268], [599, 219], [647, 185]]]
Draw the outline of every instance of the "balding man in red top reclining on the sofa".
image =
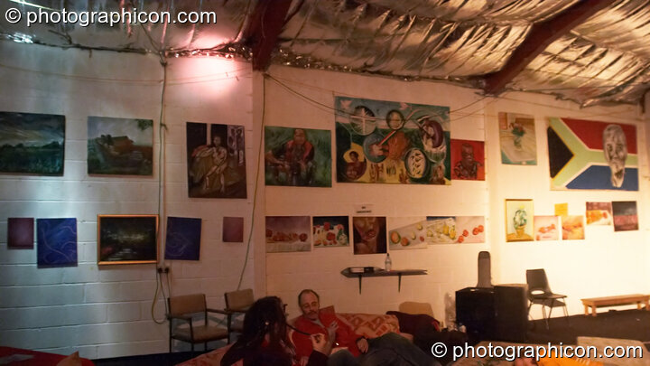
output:
[[311, 354], [311, 340], [306, 334], [324, 333], [333, 347], [329, 366], [439, 364], [399, 334], [386, 333], [367, 339], [354, 333], [336, 314], [320, 313], [320, 296], [313, 290], [302, 290], [298, 296], [298, 304], [302, 315], [295, 322], [298, 331], [293, 333], [292, 341], [299, 360]]

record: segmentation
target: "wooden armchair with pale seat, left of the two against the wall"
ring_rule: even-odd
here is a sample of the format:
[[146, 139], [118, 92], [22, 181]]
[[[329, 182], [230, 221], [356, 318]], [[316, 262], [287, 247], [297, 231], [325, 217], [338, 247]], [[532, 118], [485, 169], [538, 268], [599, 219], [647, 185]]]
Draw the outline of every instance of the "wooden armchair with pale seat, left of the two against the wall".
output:
[[[170, 324], [170, 352], [172, 352], [172, 339], [190, 343], [192, 352], [194, 352], [195, 343], [204, 343], [204, 350], [208, 351], [209, 342], [220, 339], [229, 341], [228, 329], [218, 326], [218, 324], [209, 324], [208, 317], [208, 313], [228, 316], [228, 312], [209, 309], [206, 306], [205, 294], [171, 296], [167, 299], [167, 303], [169, 305], [167, 320]], [[194, 314], [202, 315], [202, 324], [194, 324], [192, 316]]]

